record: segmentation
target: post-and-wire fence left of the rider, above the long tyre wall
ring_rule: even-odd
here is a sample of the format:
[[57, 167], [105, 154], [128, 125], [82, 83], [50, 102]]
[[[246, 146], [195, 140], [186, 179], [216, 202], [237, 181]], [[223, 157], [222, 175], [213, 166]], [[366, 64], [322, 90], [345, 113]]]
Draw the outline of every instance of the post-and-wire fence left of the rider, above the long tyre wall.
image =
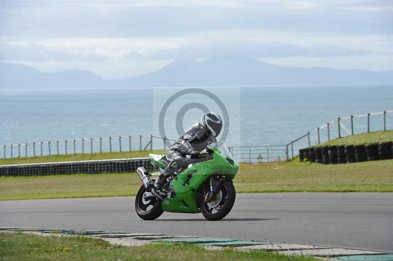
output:
[[[2, 145], [3, 158], [166, 150], [174, 139], [156, 135], [64, 139]], [[1, 149], [1, 147], [0, 147]]]

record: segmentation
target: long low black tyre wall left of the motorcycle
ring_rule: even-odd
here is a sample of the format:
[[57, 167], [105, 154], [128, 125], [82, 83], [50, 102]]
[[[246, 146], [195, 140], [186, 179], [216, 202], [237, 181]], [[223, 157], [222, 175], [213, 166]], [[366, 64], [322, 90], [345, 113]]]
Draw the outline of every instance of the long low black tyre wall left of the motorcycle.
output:
[[96, 174], [135, 172], [143, 166], [154, 171], [149, 158], [128, 158], [113, 160], [88, 160], [56, 163], [0, 165], [0, 176], [45, 176], [61, 174]]

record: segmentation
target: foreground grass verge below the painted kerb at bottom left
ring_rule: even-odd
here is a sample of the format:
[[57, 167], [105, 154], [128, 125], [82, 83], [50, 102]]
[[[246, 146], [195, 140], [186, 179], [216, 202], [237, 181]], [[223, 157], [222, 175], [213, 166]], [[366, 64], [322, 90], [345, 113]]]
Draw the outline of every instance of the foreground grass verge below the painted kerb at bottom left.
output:
[[0, 260], [268, 260], [314, 261], [307, 256], [284, 256], [272, 252], [209, 251], [185, 244], [149, 244], [139, 247], [111, 245], [89, 237], [39, 236], [0, 233]]

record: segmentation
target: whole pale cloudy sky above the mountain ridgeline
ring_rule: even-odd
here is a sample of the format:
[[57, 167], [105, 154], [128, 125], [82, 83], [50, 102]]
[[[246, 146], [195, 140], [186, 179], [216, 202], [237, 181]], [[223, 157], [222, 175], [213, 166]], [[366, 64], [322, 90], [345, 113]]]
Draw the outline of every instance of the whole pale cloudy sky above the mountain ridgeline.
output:
[[140, 75], [176, 59], [393, 70], [393, 0], [1, 0], [0, 60]]

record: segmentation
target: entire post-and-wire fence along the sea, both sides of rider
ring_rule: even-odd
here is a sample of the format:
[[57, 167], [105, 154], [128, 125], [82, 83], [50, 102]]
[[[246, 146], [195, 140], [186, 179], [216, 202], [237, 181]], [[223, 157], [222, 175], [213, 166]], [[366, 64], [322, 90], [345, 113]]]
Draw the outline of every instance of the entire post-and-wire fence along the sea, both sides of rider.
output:
[[[365, 118], [365, 120], [360, 121], [359, 118]], [[321, 144], [336, 137], [375, 130], [393, 130], [393, 110], [338, 117], [286, 145], [233, 146], [229, 149], [232, 156], [239, 162], [289, 160], [297, 155], [300, 148]], [[0, 146], [0, 150], [3, 151], [3, 158], [114, 153], [167, 150], [170, 147], [170, 141], [175, 141], [175, 139], [156, 135], [127, 135], [9, 144]]]

